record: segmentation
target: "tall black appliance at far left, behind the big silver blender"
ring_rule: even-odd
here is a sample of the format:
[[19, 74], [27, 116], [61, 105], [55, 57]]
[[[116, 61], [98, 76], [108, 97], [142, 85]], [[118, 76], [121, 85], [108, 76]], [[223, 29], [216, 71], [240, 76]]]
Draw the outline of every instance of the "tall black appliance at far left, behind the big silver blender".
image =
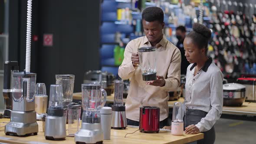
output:
[[6, 61], [4, 62], [4, 74], [3, 74], [3, 98], [5, 110], [3, 111], [3, 117], [10, 118], [13, 108], [13, 98], [11, 92], [11, 75], [13, 72], [19, 72], [18, 62]]

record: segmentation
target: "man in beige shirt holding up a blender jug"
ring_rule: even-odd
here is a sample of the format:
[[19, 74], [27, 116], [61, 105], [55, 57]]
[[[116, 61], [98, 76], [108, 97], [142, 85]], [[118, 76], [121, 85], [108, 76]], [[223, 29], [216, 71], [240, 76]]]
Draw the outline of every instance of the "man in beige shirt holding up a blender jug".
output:
[[[131, 40], [125, 48], [125, 59], [119, 66], [121, 79], [131, 78], [126, 99], [128, 125], [139, 125], [139, 109], [142, 106], [160, 108], [160, 128], [167, 125], [168, 92], [180, 85], [181, 52], [169, 42], [164, 34], [164, 12], [159, 7], [148, 7], [142, 13], [143, 29], [146, 36]], [[157, 80], [143, 81], [138, 67], [138, 48], [156, 46]]]

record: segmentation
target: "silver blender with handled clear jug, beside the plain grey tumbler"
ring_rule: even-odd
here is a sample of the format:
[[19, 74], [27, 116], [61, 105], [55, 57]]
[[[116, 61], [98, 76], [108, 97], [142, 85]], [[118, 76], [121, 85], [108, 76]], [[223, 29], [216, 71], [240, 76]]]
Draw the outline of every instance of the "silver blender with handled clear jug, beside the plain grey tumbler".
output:
[[[75, 133], [77, 144], [102, 144], [100, 109], [105, 105], [107, 92], [100, 83], [82, 84], [82, 127]], [[103, 97], [102, 97], [103, 94]]]

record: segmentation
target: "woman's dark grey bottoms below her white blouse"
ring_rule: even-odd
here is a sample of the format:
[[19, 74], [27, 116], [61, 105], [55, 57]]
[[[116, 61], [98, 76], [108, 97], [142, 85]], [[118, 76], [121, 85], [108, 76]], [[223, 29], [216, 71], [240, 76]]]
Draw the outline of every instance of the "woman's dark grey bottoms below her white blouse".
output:
[[[206, 115], [207, 115], [207, 112], [205, 112], [205, 111], [194, 110], [194, 109], [186, 109], [184, 126], [187, 127], [190, 124], [196, 125]], [[214, 144], [214, 141], [215, 141], [214, 126], [209, 131], [205, 131], [205, 132], [202, 132], [202, 133], [204, 134], [203, 139], [197, 141], [197, 144]]]

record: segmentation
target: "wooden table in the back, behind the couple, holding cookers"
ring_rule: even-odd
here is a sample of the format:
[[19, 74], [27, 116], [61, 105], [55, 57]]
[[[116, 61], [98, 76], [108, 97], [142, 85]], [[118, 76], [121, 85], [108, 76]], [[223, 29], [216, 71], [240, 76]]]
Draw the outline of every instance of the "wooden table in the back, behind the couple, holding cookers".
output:
[[[77, 92], [73, 94], [74, 100], [81, 101], [81, 92]], [[124, 102], [126, 99], [124, 98]], [[184, 98], [179, 98], [178, 101], [168, 101], [169, 108], [173, 108], [174, 102], [183, 102]], [[114, 102], [114, 94], [107, 96], [107, 102]], [[240, 107], [226, 107], [223, 106], [222, 110], [223, 114], [232, 114], [232, 115], [256, 115], [256, 102], [244, 102]]]

